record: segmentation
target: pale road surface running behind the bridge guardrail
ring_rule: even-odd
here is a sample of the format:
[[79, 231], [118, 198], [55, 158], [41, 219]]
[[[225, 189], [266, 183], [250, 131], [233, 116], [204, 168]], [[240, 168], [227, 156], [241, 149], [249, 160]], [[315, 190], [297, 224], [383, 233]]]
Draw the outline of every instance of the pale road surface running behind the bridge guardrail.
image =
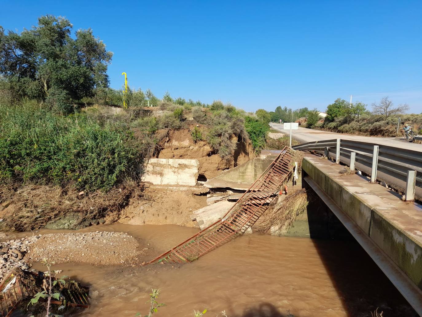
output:
[[[286, 135], [290, 134], [290, 130], [284, 130], [282, 124], [270, 123], [270, 126], [276, 130], [279, 130], [281, 133], [284, 133]], [[295, 140], [298, 140], [301, 143], [340, 138], [340, 139], [346, 139], [346, 140], [394, 146], [396, 148], [403, 148], [403, 149], [422, 152], [422, 144], [411, 143], [411, 142], [406, 141], [404, 138], [400, 138], [400, 137], [392, 137], [392, 138], [362, 137], [360, 135], [350, 135], [350, 134], [335, 133], [335, 132], [299, 127], [298, 130], [292, 130], [292, 138]]]

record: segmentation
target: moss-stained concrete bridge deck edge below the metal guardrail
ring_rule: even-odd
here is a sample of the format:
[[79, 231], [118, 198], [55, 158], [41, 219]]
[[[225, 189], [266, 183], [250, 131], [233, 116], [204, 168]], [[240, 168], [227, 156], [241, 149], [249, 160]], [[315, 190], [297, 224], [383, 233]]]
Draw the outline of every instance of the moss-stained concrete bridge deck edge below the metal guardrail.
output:
[[302, 186], [319, 197], [314, 204], [332, 211], [422, 315], [422, 206], [369, 177], [340, 174], [335, 160], [306, 154], [302, 169]]

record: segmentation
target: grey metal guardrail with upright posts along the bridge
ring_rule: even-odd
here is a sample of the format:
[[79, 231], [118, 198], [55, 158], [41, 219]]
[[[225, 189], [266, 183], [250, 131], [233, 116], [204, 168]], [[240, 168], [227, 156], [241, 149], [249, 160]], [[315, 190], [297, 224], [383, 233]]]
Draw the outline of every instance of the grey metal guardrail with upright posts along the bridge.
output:
[[345, 139], [306, 142], [295, 150], [324, 152], [325, 156], [371, 175], [403, 191], [406, 201], [422, 200], [422, 152]]

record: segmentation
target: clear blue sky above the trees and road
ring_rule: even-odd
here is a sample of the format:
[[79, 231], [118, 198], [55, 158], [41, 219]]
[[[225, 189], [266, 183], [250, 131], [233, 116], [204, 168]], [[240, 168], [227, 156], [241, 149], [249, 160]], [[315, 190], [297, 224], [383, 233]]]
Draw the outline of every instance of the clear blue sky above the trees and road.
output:
[[5, 1], [0, 25], [44, 14], [91, 27], [114, 52], [110, 85], [247, 111], [324, 110], [382, 96], [422, 112], [422, 1]]

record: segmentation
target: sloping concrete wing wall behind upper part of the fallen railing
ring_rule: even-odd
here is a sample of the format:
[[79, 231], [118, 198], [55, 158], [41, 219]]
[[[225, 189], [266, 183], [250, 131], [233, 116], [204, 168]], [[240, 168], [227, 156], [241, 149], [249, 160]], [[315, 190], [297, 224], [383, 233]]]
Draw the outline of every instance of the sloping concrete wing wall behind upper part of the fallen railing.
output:
[[272, 162], [273, 158], [254, 158], [206, 181], [204, 186], [208, 188], [231, 188], [236, 190], [249, 189]]

